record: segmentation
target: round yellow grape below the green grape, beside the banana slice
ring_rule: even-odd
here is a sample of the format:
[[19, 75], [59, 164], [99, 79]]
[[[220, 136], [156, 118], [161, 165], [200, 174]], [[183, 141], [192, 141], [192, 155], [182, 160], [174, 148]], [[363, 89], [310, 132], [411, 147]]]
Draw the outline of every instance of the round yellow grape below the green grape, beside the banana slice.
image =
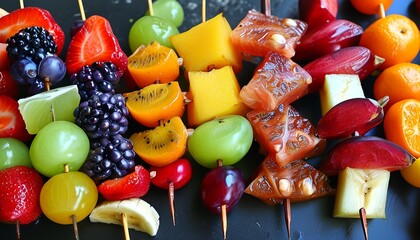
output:
[[95, 208], [98, 190], [93, 180], [82, 172], [60, 173], [42, 187], [42, 212], [58, 224], [72, 224], [72, 216], [80, 222]]

